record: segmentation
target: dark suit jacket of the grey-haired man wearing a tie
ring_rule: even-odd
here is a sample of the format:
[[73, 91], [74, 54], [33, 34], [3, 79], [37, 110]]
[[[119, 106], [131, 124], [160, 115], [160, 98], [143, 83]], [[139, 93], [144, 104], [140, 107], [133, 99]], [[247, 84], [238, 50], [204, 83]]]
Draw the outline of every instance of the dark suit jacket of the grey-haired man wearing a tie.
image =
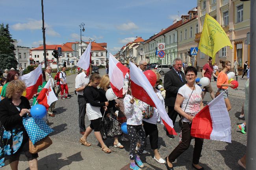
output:
[[174, 69], [171, 69], [165, 74], [164, 77], [164, 89], [165, 92], [165, 105], [166, 106], [174, 106], [176, 97], [178, 94], [178, 90], [181, 86], [186, 84], [185, 74], [180, 71], [182, 80], [180, 79], [180, 76], [176, 73]]

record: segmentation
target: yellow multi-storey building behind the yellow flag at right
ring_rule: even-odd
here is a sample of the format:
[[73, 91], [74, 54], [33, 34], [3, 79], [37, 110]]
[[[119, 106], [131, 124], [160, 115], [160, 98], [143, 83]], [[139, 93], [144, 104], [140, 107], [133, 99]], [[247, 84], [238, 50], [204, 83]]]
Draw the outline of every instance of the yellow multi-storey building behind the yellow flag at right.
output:
[[[197, 0], [197, 9], [199, 33], [195, 35], [195, 42], [199, 44], [204, 18], [208, 13], [223, 27], [233, 46], [233, 49], [222, 48], [216, 54], [215, 62], [230, 60], [233, 64], [236, 59], [239, 68], [242, 68], [246, 61], [250, 63], [250, 45], [247, 44], [247, 33], [250, 32], [250, 1]], [[202, 68], [208, 58], [207, 55], [199, 52], [197, 66]]]

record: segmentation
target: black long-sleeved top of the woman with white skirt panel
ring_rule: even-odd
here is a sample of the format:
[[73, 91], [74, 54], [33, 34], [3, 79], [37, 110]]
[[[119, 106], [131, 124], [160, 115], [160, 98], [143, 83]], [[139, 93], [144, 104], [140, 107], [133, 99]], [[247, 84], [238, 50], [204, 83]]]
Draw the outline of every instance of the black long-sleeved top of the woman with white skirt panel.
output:
[[105, 102], [100, 102], [99, 90], [97, 88], [94, 88], [93, 86], [86, 86], [83, 90], [83, 96], [85, 98], [86, 103], [90, 103], [91, 106], [105, 106]]

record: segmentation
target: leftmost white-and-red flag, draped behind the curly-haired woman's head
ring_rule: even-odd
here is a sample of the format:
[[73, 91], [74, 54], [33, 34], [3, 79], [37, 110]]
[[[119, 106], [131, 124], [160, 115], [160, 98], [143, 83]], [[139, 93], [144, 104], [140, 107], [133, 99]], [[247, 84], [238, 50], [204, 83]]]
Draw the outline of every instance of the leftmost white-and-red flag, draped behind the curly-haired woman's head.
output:
[[42, 65], [31, 71], [28, 74], [19, 77], [26, 85], [26, 98], [28, 100], [32, 99], [33, 95], [37, 93], [38, 86], [43, 84], [42, 81]]

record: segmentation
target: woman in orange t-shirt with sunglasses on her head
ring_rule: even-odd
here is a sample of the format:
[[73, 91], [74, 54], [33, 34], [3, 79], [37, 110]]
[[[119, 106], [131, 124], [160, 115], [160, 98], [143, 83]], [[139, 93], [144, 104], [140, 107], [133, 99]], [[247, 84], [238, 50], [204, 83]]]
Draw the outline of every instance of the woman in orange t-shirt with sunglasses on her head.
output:
[[234, 87], [233, 84], [228, 84], [228, 75], [227, 75], [227, 71], [230, 71], [231, 69], [231, 63], [230, 61], [226, 60], [219, 60], [219, 62], [221, 63], [221, 66], [223, 68], [223, 70], [219, 73], [218, 75], [218, 79], [217, 79], [217, 88], [218, 91], [221, 93], [223, 91], [225, 91], [223, 93], [223, 97], [224, 97], [224, 101], [227, 107], [227, 110], [230, 111], [231, 109], [231, 104], [230, 101], [228, 99], [228, 87]]

